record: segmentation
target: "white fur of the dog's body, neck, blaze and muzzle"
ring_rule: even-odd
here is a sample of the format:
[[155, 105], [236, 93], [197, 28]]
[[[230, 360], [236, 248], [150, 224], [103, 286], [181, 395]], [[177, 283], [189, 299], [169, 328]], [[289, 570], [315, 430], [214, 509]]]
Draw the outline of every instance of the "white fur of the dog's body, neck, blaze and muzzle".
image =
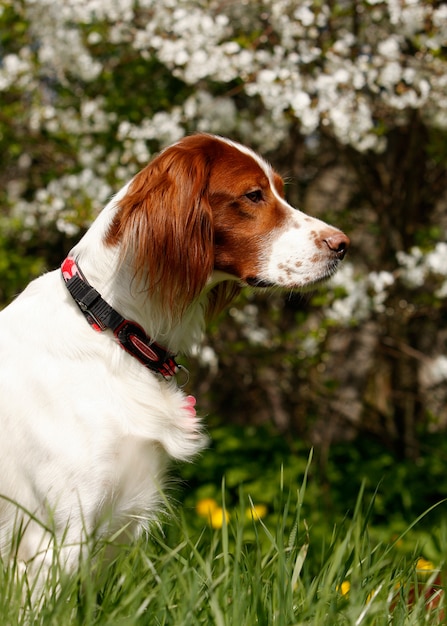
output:
[[[229, 143], [253, 157], [272, 183], [271, 168], [261, 158]], [[166, 348], [188, 351], [201, 336], [207, 291], [229, 276], [213, 273], [198, 300], [172, 322], [132, 279], [119, 250], [104, 245], [127, 188], [72, 255], [124, 317]], [[311, 235], [328, 227], [274, 194], [290, 216], [265, 239], [261, 278], [286, 287], [319, 280], [332, 270], [327, 251], [318, 250]], [[123, 527], [138, 534], [160, 508], [169, 458], [189, 460], [205, 443], [176, 381], [143, 367], [110, 331], [94, 332], [58, 269], [33, 281], [0, 313], [0, 364], [3, 558], [28, 562], [41, 552], [39, 564], [45, 566], [53, 538], [61, 543], [65, 537], [64, 558], [72, 567], [86, 537], [110, 536]]]

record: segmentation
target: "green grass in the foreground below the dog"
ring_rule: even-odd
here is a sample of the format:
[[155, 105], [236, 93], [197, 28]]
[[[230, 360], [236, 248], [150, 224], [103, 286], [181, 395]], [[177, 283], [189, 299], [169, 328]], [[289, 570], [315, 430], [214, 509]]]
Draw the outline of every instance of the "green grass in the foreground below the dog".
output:
[[[310, 461], [309, 461], [310, 463]], [[252, 502], [240, 491], [238, 508], [222, 515], [220, 528], [200, 531], [182, 511], [149, 538], [122, 547], [101, 567], [82, 563], [77, 575], [44, 590], [39, 608], [21, 608], [23, 589], [14, 567], [0, 568], [0, 615], [4, 625], [216, 625], [216, 626], [411, 626], [439, 624], [443, 600], [427, 608], [440, 574], [418, 560], [420, 546], [402, 554], [372, 538], [374, 498], [363, 490], [352, 515], [334, 527], [326, 544], [312, 542], [303, 516], [309, 464], [300, 487], [277, 485], [267, 520], [246, 515]], [[222, 487], [225, 513], [225, 485]], [[169, 504], [167, 505], [169, 508]], [[186, 511], [187, 513], [187, 511]], [[420, 520], [410, 525], [408, 536]], [[447, 533], [440, 534], [446, 554]], [[418, 571], [418, 563], [419, 569]], [[442, 564], [438, 564], [441, 566]], [[54, 579], [60, 574], [57, 559]], [[426, 597], [427, 596], [427, 597]]]

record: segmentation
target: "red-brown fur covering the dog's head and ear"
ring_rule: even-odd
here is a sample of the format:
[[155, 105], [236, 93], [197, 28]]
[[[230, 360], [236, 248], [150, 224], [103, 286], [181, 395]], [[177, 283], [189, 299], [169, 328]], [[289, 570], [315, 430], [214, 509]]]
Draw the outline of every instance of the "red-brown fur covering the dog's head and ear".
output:
[[[272, 171], [278, 195], [284, 183]], [[246, 194], [262, 192], [253, 202]], [[259, 162], [224, 141], [194, 135], [157, 156], [133, 179], [106, 237], [121, 246], [135, 277], [176, 315], [200, 294], [213, 270], [256, 276], [261, 240], [284, 208]], [[224, 308], [235, 283], [210, 298]]]

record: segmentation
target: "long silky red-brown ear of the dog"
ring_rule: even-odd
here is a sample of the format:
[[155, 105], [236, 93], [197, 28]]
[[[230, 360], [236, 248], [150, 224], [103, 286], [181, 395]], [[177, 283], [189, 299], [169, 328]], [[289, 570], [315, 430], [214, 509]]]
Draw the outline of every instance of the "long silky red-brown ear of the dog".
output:
[[208, 179], [203, 151], [181, 144], [167, 148], [132, 180], [107, 235], [139, 284], [174, 317], [200, 294], [213, 271]]

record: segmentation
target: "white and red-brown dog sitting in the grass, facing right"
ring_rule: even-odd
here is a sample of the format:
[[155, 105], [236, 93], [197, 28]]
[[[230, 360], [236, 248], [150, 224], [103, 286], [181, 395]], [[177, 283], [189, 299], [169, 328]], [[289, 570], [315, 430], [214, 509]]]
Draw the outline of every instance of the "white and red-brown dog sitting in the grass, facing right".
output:
[[290, 206], [251, 149], [188, 136], [0, 313], [0, 554], [41, 572], [86, 537], [138, 536], [170, 459], [205, 445], [178, 353], [243, 286], [305, 290], [348, 237]]

